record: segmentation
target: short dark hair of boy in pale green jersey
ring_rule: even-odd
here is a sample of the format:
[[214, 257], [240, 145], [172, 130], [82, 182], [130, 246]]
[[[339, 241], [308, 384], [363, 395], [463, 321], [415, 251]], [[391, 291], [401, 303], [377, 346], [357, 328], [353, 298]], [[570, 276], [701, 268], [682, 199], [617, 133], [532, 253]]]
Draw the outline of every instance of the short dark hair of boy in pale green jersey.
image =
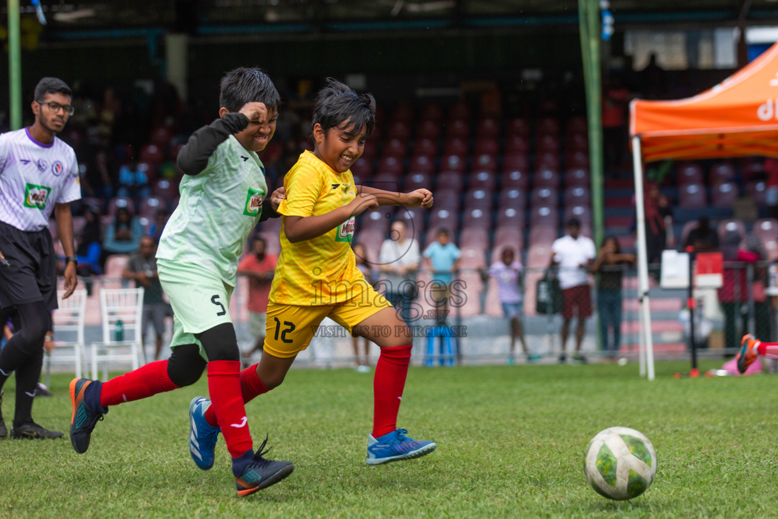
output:
[[281, 103], [279, 91], [265, 72], [259, 68], [240, 67], [227, 72], [222, 78], [219, 107], [238, 112], [246, 103], [265, 103], [268, 110], [275, 110]]

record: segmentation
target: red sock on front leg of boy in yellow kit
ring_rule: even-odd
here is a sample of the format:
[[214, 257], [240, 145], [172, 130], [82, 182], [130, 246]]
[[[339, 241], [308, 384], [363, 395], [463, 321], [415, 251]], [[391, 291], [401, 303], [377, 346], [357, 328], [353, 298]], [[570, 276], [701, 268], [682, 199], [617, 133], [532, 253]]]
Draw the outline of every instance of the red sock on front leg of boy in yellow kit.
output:
[[381, 348], [373, 377], [373, 438], [397, 429], [402, 390], [413, 345]]

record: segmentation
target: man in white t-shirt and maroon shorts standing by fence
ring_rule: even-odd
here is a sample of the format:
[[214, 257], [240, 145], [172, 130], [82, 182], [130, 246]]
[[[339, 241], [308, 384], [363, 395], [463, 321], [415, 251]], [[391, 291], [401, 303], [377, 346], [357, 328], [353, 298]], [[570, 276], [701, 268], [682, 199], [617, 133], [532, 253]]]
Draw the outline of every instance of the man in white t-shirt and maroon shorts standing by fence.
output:
[[559, 267], [559, 288], [562, 289], [562, 353], [559, 362], [566, 360], [566, 342], [570, 321], [578, 317], [576, 328], [576, 352], [573, 359], [585, 363], [580, 354], [581, 343], [586, 332], [586, 319], [591, 317], [591, 287], [589, 286], [589, 265], [597, 256], [594, 241], [580, 235], [578, 219], [567, 222], [565, 236], [554, 241], [551, 247], [551, 266]]

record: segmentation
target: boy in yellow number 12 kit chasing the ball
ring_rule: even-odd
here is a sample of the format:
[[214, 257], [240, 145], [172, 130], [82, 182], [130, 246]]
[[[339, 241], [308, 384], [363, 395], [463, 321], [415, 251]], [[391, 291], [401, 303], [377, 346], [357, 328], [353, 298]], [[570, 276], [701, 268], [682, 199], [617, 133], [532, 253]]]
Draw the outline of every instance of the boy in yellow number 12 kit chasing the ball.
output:
[[[412, 335], [391, 304], [366, 282], [350, 247], [356, 216], [379, 205], [429, 209], [426, 189], [394, 193], [354, 185], [349, 167], [375, 126], [375, 100], [335, 79], [319, 92], [313, 117], [314, 152], [304, 152], [284, 178], [281, 254], [268, 303], [265, 352], [241, 372], [244, 401], [278, 387], [324, 317], [381, 348], [373, 380], [373, 430], [367, 464], [419, 458], [435, 450], [397, 428]], [[385, 333], [386, 330], [391, 333]], [[209, 414], [211, 416], [209, 416]], [[207, 410], [205, 420], [216, 427]], [[204, 431], [203, 433], [211, 433]]]

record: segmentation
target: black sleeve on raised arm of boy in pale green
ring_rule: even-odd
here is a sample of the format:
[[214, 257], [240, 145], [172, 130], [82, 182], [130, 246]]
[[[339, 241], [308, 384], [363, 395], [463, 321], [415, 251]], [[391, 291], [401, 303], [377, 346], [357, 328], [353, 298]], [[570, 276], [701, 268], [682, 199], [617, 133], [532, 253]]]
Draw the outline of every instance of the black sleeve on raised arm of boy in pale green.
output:
[[219, 144], [247, 126], [248, 117], [240, 112], [224, 114], [224, 117], [216, 119], [208, 126], [203, 126], [193, 133], [186, 145], [180, 149], [176, 160], [178, 167], [187, 175], [201, 173]]

